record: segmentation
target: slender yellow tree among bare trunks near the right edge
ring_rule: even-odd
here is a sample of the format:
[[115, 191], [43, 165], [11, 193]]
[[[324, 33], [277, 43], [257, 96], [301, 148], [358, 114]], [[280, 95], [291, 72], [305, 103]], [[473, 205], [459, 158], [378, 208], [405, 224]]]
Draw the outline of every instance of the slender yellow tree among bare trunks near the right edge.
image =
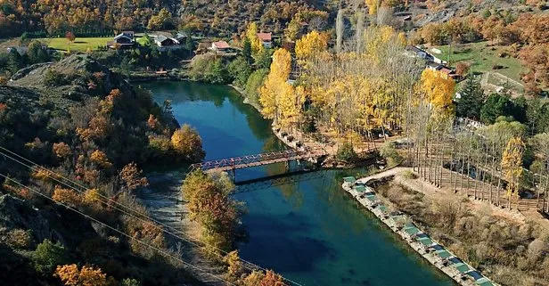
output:
[[513, 137], [507, 143], [502, 157], [502, 169], [507, 180], [507, 208], [511, 208], [512, 196], [519, 196], [520, 177], [522, 177], [522, 155], [526, 145], [520, 137]]

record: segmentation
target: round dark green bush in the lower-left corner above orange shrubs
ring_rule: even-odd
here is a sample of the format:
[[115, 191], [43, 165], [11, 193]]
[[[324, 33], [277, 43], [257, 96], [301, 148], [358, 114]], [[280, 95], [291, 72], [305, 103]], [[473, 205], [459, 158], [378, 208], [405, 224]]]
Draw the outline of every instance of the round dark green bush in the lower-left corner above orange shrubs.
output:
[[53, 244], [52, 241], [44, 240], [38, 244], [37, 249], [32, 254], [32, 262], [40, 274], [49, 276], [53, 273], [55, 266], [68, 263], [68, 257], [66, 249], [57, 242]]

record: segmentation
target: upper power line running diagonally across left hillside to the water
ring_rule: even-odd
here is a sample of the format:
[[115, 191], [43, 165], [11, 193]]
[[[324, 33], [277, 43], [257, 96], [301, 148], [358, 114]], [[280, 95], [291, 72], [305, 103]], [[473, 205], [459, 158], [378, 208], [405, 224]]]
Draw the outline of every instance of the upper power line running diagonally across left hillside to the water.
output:
[[[70, 184], [67, 184], [67, 183], [65, 183], [65, 182], [60, 181], [58, 178], [62, 178], [62, 179], [64, 179], [64, 180], [67, 180], [67, 181], [69, 181], [70, 183], [75, 184], [75, 185], [77, 185], [78, 187], [80, 187], [80, 188], [82, 188], [82, 189], [84, 189], [84, 190], [86, 190], [86, 191], [89, 191], [89, 190], [90, 190], [90, 189], [87, 188], [85, 185], [82, 185], [82, 184], [79, 184], [78, 182], [72, 181], [70, 178], [67, 178], [67, 177], [62, 176], [62, 175], [60, 175], [60, 174], [58, 174], [58, 173], [55, 173], [55, 172], [49, 170], [48, 168], [44, 168], [44, 167], [38, 165], [37, 163], [31, 161], [30, 159], [26, 159], [26, 158], [20, 156], [19, 154], [15, 153], [15, 152], [13, 152], [13, 151], [10, 151], [10, 150], [8, 150], [8, 149], [6, 149], [6, 148], [4, 148], [3, 146], [0, 146], [0, 149], [9, 152], [9, 153], [12, 154], [13, 156], [16, 156], [16, 157], [18, 157], [18, 158], [20, 158], [20, 159], [23, 159], [23, 160], [29, 162], [30, 164], [36, 166], [37, 168], [40, 168], [40, 169], [45, 170], [46, 173], [47, 173], [47, 177], [51, 178], [53, 181], [55, 181], [55, 182], [57, 182], [57, 183], [59, 183], [59, 184], [63, 184], [63, 185], [65, 185], [65, 186], [69, 187], [70, 189], [72, 189], [72, 190], [74, 190], [74, 191], [77, 191], [77, 192], [79, 192], [79, 193], [84, 193], [84, 192], [85, 192], [85, 191], [82, 191], [82, 190], [76, 188], [76, 187], [73, 186], [73, 185], [70, 185]], [[26, 163], [24, 163], [24, 162], [21, 162], [19, 159], [15, 159], [15, 158], [13, 158], [12, 156], [10, 156], [10, 155], [4, 153], [3, 151], [0, 151], [0, 154], [4, 155], [4, 156], [5, 156], [6, 158], [8, 158], [8, 159], [12, 159], [13, 161], [19, 163], [19, 164], [22, 165], [22, 166], [25, 166], [25, 167], [27, 167], [27, 168], [30, 168], [30, 169], [33, 170], [33, 171], [37, 171], [37, 168], [34, 168], [33, 166], [30, 166], [30, 165], [28, 165], [28, 164], [26, 164]], [[52, 176], [51, 174], [53, 174], [54, 176]], [[182, 240], [182, 241], [187, 241], [187, 242], [193, 244], [193, 245], [196, 246], [196, 247], [201, 247], [201, 245], [199, 245], [199, 243], [200, 243], [200, 244], [202, 244], [202, 246], [209, 246], [210, 248], [216, 249], [216, 250], [218, 250], [219, 252], [224, 253], [225, 255], [228, 254], [227, 251], [225, 251], [225, 250], [223, 250], [223, 249], [219, 249], [219, 248], [217, 248], [217, 247], [215, 247], [215, 246], [213, 246], [213, 245], [209, 245], [209, 244], [207, 244], [207, 243], [205, 243], [205, 242], [202, 242], [202, 241], [192, 241], [192, 240], [193, 240], [193, 237], [189, 236], [188, 234], [183, 233], [182, 231], [179, 231], [179, 230], [177, 230], [176, 228], [174, 228], [174, 227], [172, 227], [172, 226], [169, 226], [169, 225], [166, 225], [166, 224], [164, 224], [164, 223], [161, 223], [160, 221], [154, 219], [153, 217], [150, 217], [150, 216], [147, 216], [146, 214], [143, 214], [143, 213], [141, 213], [141, 212], [138, 212], [138, 211], [136, 211], [136, 210], [133, 209], [133, 208], [129, 208], [129, 207], [127, 207], [126, 205], [121, 204], [121, 203], [119, 203], [119, 202], [116, 201], [116, 200], [112, 200], [111, 198], [109, 198], [109, 197], [107, 197], [107, 196], [105, 196], [105, 195], [102, 195], [101, 193], [99, 193], [98, 195], [99, 195], [101, 198], [103, 198], [104, 200], [107, 200], [107, 201], [101, 200], [101, 199], [99, 199], [99, 198], [95, 198], [94, 200], [98, 200], [98, 201], [100, 201], [100, 202], [102, 202], [102, 203], [104, 203], [104, 204], [107, 204], [107, 205], [114, 204], [114, 205], [116, 205], [116, 206], [120, 206], [121, 208], [125, 208], [125, 209], [127, 209], [128, 211], [130, 211], [130, 212], [134, 212], [134, 213], [136, 213], [139, 217], [136, 217], [135, 215], [128, 213], [128, 211], [126, 211], [126, 210], [124, 210], [124, 209], [121, 209], [121, 208], [118, 208], [118, 207], [113, 206], [113, 208], [119, 210], [119, 211], [122, 212], [123, 214], [125, 214], [125, 215], [127, 215], [127, 216], [129, 216], [129, 217], [134, 217], [134, 218], [140, 220], [141, 222], [143, 222], [143, 223], [145, 223], [145, 224], [152, 225], [153, 227], [160, 229], [163, 233], [168, 233], [169, 235], [172, 235], [173, 237], [175, 237], [175, 238], [177, 238], [177, 239], [180, 239], [180, 240]], [[144, 217], [144, 218], [143, 218], [143, 217]], [[145, 219], [145, 218], [146, 218], [146, 219]], [[152, 222], [153, 222], [154, 224], [152, 224]], [[155, 224], [158, 224], [158, 225], [155, 225]], [[176, 232], [176, 233], [179, 233], [179, 234], [181, 234], [181, 235], [184, 235], [184, 236], [188, 237], [189, 239], [185, 239], [185, 238], [183, 238], [183, 237], [177, 235], [176, 233], [172, 233], [171, 231], [168, 231], [167, 229], [162, 228], [162, 227], [160, 227], [159, 225], [162, 225], [162, 226], [168, 228], [169, 230], [171, 230], [171, 231], [173, 231], [173, 232]], [[217, 251], [210, 250], [210, 249], [208, 249], [208, 248], [205, 249], [205, 250], [208, 251], [208, 252], [211, 253], [211, 254], [217, 255], [218, 257], [223, 257], [223, 256], [222, 256], [220, 253], [218, 253]], [[245, 260], [245, 259], [243, 259], [243, 258], [241, 258], [241, 257], [239, 257], [239, 260], [243, 262], [243, 267], [246, 268], [246, 269], [248, 269], [248, 270], [250, 270], [250, 271], [253, 271], [253, 270], [256, 270], [256, 269], [260, 269], [260, 270], [263, 270], [263, 271], [265, 271], [265, 272], [267, 271], [267, 269], [265, 269], [265, 268], [263, 268], [263, 267], [261, 267], [261, 266], [258, 266], [258, 265], [254, 264], [254, 263], [252, 263], [252, 262], [250, 262], [250, 261], [248, 261], [248, 260]], [[252, 267], [255, 267], [255, 269], [252, 268]], [[281, 276], [281, 277], [282, 277], [282, 276]], [[291, 282], [291, 284], [294, 284], [294, 285], [297, 285], [297, 286], [302, 286], [299, 282], [295, 282], [295, 281], [292, 281], [291, 279], [284, 278], [284, 277], [282, 277], [282, 278], [283, 278], [283, 280], [286, 281], [286, 282]]]

